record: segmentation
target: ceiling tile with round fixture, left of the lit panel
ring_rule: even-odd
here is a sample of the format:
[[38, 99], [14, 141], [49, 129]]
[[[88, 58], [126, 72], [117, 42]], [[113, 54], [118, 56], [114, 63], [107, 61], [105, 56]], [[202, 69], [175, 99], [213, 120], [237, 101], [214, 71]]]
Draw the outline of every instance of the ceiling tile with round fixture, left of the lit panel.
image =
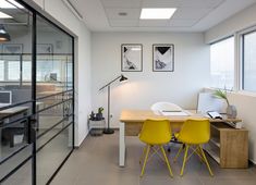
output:
[[[119, 15], [120, 12], [125, 12], [127, 15]], [[111, 18], [122, 18], [122, 20], [132, 20], [138, 18], [141, 15], [141, 9], [106, 9], [106, 14], [109, 20]]]

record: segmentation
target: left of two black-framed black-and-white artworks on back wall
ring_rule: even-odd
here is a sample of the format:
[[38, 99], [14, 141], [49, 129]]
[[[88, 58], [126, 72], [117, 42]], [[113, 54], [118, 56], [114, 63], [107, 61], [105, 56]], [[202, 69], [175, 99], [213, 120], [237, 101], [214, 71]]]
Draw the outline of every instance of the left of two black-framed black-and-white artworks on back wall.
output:
[[122, 53], [122, 72], [142, 72], [143, 71], [143, 45], [123, 44]]

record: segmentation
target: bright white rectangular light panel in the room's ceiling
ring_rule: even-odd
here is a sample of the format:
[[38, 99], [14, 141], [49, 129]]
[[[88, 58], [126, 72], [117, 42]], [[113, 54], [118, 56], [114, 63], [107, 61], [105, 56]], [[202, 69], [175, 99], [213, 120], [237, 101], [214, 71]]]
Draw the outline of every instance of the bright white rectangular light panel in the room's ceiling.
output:
[[142, 9], [141, 20], [169, 20], [175, 11], [175, 8]]

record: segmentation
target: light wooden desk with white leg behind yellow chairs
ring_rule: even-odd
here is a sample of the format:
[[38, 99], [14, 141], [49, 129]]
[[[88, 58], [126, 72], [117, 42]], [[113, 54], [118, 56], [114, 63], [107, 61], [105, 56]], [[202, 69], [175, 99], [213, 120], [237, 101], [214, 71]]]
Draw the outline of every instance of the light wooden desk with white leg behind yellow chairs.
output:
[[[190, 115], [186, 116], [163, 116], [148, 110], [123, 110], [120, 115], [120, 133], [119, 133], [119, 165], [124, 166], [125, 163], [125, 136], [137, 136], [142, 130], [142, 125], [147, 119], [167, 119], [174, 125], [182, 125], [187, 119], [203, 119], [200, 114], [196, 114], [195, 111], [187, 111]], [[205, 118], [204, 118], [205, 119]], [[241, 122], [239, 119], [212, 120], [210, 122]]]

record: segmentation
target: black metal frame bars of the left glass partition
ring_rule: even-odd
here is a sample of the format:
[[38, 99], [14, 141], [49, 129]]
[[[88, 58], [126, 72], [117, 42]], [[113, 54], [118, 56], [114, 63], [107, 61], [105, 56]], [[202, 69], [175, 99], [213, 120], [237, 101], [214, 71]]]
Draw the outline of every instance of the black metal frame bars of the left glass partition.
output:
[[[69, 34], [66, 30], [64, 30], [63, 28], [61, 28], [60, 26], [58, 26], [57, 24], [54, 24], [52, 21], [48, 20], [46, 16], [44, 16], [41, 13], [37, 12], [35, 9], [33, 9], [32, 7], [29, 7], [26, 2], [24, 2], [23, 0], [16, 0], [19, 3], [21, 3], [23, 7], [25, 7], [29, 12], [32, 12], [32, 15], [33, 15], [33, 25], [32, 25], [32, 100], [28, 100], [28, 101], [23, 101], [23, 102], [19, 102], [19, 103], [15, 103], [15, 104], [11, 104], [11, 106], [7, 106], [7, 107], [3, 107], [3, 108], [0, 108], [0, 111], [1, 110], [4, 110], [4, 109], [9, 109], [9, 108], [14, 108], [14, 107], [17, 107], [17, 106], [22, 106], [22, 104], [26, 104], [26, 103], [32, 103], [32, 114], [29, 115], [26, 115], [26, 116], [23, 116], [22, 120], [28, 120], [28, 144], [27, 145], [24, 145], [22, 146], [21, 148], [19, 148], [17, 150], [15, 150], [14, 152], [12, 152], [10, 156], [8, 156], [7, 158], [4, 158], [3, 160], [0, 161], [0, 164], [7, 162], [9, 159], [11, 159], [12, 157], [14, 157], [15, 155], [17, 155], [19, 152], [21, 152], [22, 150], [24, 150], [25, 148], [27, 148], [28, 146], [32, 145], [32, 156], [29, 156], [28, 158], [26, 158], [24, 161], [22, 161], [17, 166], [15, 166], [11, 172], [9, 172], [4, 177], [2, 177], [0, 180], [0, 184], [3, 183], [5, 180], [8, 180], [12, 174], [14, 174], [19, 169], [21, 169], [24, 164], [26, 164], [27, 161], [29, 161], [32, 159], [32, 184], [33, 185], [36, 185], [36, 178], [37, 178], [37, 175], [36, 175], [36, 170], [37, 170], [37, 166], [36, 166], [36, 156], [37, 156], [37, 152], [44, 148], [48, 143], [50, 143], [53, 138], [56, 138], [60, 133], [62, 133], [64, 130], [66, 130], [70, 125], [72, 125], [72, 134], [73, 134], [73, 146], [72, 146], [72, 150], [66, 155], [65, 159], [61, 162], [61, 164], [58, 166], [58, 169], [56, 170], [56, 172], [51, 175], [51, 177], [48, 180], [47, 184], [50, 184], [50, 182], [53, 180], [53, 177], [56, 176], [56, 174], [59, 172], [59, 170], [61, 169], [61, 166], [65, 163], [65, 161], [69, 159], [69, 157], [71, 156], [71, 153], [73, 152], [74, 150], [74, 98], [75, 98], [75, 92], [74, 92], [74, 79], [75, 79], [75, 76], [74, 76], [74, 37]], [[48, 22], [49, 24], [53, 25], [54, 27], [57, 27], [58, 29], [60, 29], [61, 32], [63, 32], [64, 34], [66, 34], [69, 37], [72, 38], [72, 64], [73, 64], [73, 69], [72, 69], [72, 90], [66, 90], [66, 91], [71, 91], [73, 92], [73, 97], [68, 99], [68, 100], [62, 100], [61, 102], [59, 103], [56, 103], [53, 106], [50, 106], [48, 107], [47, 109], [50, 109], [52, 107], [56, 107], [60, 103], [64, 103], [66, 101], [72, 101], [72, 114], [69, 114], [66, 116], [64, 116], [64, 119], [62, 119], [60, 122], [58, 122], [57, 124], [54, 124], [53, 126], [51, 126], [50, 128], [53, 128], [56, 127], [57, 125], [61, 124], [63, 121], [65, 121], [66, 118], [70, 118], [72, 116], [72, 122], [70, 122], [68, 125], [65, 125], [61, 131], [59, 131], [56, 135], [53, 135], [46, 144], [44, 144], [42, 146], [40, 146], [39, 149], [36, 148], [36, 139], [39, 138], [40, 136], [45, 135], [47, 132], [50, 131], [50, 128], [48, 131], [46, 131], [45, 133], [42, 133], [41, 135], [39, 135], [38, 137], [36, 137], [36, 132], [35, 132], [35, 128], [32, 127], [32, 122], [35, 121], [35, 118], [36, 118], [36, 114], [39, 113], [36, 111], [36, 101], [39, 100], [39, 99], [45, 99], [45, 98], [49, 98], [49, 97], [52, 97], [52, 96], [57, 96], [59, 94], [65, 94], [66, 91], [62, 91], [62, 92], [59, 92], [59, 94], [53, 94], [53, 95], [50, 95], [50, 96], [46, 96], [46, 97], [39, 97], [39, 98], [36, 98], [36, 55], [37, 55], [37, 51], [36, 51], [36, 38], [37, 38], [37, 16], [41, 17], [44, 21]], [[47, 110], [47, 109], [44, 109], [44, 110]], [[41, 111], [40, 111], [41, 112]], [[21, 120], [21, 119], [20, 119]], [[16, 121], [13, 121], [12, 123], [10, 124], [13, 124], [17, 122]], [[10, 125], [9, 124], [9, 125]], [[29, 145], [31, 144], [31, 145]]]

